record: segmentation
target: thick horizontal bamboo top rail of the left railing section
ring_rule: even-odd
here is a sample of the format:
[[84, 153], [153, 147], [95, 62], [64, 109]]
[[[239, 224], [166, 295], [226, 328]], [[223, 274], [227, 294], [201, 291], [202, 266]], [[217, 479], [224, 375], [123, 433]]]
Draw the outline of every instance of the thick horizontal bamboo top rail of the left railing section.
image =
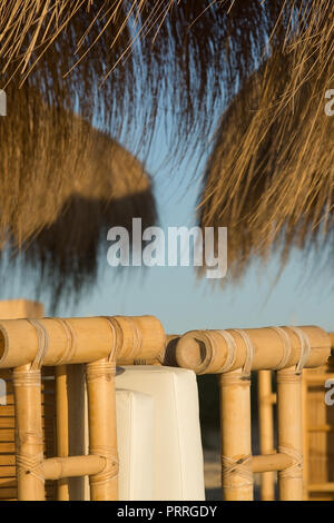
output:
[[[42, 318], [48, 335], [43, 365], [89, 363], [108, 357], [155, 359], [166, 346], [166, 335], [154, 316], [114, 316], [91, 318]], [[70, 333], [70, 337], [69, 337]], [[38, 351], [36, 328], [27, 319], [0, 320], [0, 368], [31, 363]]]

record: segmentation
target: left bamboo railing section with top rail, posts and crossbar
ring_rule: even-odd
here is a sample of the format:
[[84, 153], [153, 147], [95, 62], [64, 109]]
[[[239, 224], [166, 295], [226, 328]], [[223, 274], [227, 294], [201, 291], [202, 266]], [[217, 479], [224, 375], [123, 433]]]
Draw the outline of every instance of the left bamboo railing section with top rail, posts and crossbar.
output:
[[[69, 499], [69, 477], [89, 475], [92, 501], [117, 500], [116, 361], [154, 359], [166, 336], [158, 319], [143, 317], [0, 320], [0, 368], [13, 368], [16, 476], [20, 501], [46, 499], [45, 482], [58, 481], [58, 499]], [[68, 373], [85, 364], [89, 454], [69, 455]], [[43, 455], [41, 368], [57, 369], [57, 453]]]

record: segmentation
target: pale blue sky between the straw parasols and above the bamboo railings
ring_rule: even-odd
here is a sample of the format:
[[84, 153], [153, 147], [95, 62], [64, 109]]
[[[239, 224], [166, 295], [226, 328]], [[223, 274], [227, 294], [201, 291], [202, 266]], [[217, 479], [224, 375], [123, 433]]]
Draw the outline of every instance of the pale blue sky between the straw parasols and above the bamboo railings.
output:
[[[146, 161], [154, 177], [159, 221], [163, 227], [194, 226], [200, 178], [200, 169], [194, 175], [198, 157], [190, 154], [178, 166], [161, 167], [166, 142], [161, 127]], [[273, 257], [266, 268], [255, 260], [240, 283], [232, 285], [227, 278], [223, 286], [213, 287], [208, 279], [198, 279], [191, 267], [125, 268], [119, 274], [107, 264], [108, 247], [106, 240], [95, 288], [76, 307], [62, 303], [60, 316], [154, 314], [168, 333], [288, 324], [315, 324], [334, 330], [333, 287], [320, 272], [303, 278], [307, 268], [303, 254], [292, 255], [276, 286], [273, 283], [278, 264]], [[16, 276], [9, 280], [3, 297], [33, 298], [27, 279], [22, 283]], [[47, 293], [42, 298], [48, 302]]]

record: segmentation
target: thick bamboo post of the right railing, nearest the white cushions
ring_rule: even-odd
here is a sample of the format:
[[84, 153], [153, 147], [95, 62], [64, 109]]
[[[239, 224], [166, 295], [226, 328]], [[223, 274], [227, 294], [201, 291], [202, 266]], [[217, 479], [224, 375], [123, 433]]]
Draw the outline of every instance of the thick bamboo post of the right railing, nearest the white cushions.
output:
[[223, 496], [252, 501], [250, 381], [240, 369], [220, 374], [219, 391]]

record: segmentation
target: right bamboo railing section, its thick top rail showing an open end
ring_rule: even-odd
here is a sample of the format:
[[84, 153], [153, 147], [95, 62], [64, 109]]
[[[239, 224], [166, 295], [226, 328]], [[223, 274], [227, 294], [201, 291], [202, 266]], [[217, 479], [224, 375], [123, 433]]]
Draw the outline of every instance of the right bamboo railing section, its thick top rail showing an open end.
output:
[[[303, 500], [302, 373], [322, 366], [330, 353], [328, 334], [314, 326], [191, 330], [178, 339], [179, 366], [219, 374], [225, 500], [253, 500], [253, 473], [273, 471], [281, 500]], [[250, 371], [265, 369], [276, 371], [278, 452], [252, 456]], [[266, 393], [271, 406], [268, 387]]]

